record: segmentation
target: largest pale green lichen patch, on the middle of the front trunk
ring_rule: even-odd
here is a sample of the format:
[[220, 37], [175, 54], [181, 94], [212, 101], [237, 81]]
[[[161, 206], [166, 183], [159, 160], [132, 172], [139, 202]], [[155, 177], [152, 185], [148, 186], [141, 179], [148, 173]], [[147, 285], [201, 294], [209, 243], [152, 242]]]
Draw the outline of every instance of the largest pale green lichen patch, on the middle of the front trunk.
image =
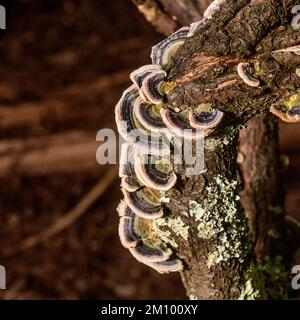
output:
[[243, 261], [250, 249], [247, 220], [239, 208], [238, 183], [221, 175], [206, 188], [202, 203], [189, 202], [189, 214], [198, 224], [198, 236], [216, 241], [207, 259], [211, 267], [232, 258]]

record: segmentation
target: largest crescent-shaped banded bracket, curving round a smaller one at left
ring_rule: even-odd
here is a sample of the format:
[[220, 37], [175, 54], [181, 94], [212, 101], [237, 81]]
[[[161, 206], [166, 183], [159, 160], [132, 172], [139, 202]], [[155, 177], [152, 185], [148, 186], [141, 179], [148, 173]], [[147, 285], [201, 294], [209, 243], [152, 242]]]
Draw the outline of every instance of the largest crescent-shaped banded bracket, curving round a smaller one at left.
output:
[[120, 135], [125, 141], [139, 150], [150, 154], [169, 154], [170, 146], [163, 133], [153, 133], [146, 130], [134, 116], [134, 103], [139, 97], [139, 91], [132, 85], [123, 92], [116, 105], [115, 117]]

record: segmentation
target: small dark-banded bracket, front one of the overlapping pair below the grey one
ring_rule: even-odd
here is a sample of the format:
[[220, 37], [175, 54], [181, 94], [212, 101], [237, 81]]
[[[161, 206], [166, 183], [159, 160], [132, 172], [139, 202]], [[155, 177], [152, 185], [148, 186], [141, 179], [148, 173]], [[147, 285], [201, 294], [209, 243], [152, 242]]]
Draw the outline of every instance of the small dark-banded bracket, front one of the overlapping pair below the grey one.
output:
[[163, 70], [151, 72], [145, 77], [140, 90], [141, 96], [153, 104], [163, 102], [163, 84], [167, 73]]

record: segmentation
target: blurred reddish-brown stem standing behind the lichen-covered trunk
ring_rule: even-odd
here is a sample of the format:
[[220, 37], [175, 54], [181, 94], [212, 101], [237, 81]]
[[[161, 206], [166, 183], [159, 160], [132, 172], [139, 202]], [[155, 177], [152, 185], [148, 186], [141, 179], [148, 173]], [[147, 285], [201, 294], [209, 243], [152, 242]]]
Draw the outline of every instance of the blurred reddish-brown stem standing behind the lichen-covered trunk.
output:
[[281, 180], [278, 122], [256, 116], [240, 135], [238, 163], [244, 188], [241, 203], [250, 222], [257, 261], [283, 254], [284, 190]]

